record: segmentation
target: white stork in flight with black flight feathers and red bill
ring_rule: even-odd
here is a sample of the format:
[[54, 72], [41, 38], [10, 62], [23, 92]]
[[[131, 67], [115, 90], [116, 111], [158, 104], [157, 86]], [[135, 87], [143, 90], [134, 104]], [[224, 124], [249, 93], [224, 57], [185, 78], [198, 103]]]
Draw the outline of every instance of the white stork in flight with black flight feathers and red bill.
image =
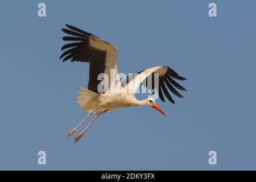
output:
[[[170, 67], [154, 67], [145, 69], [142, 72], [139, 72], [137, 76], [129, 77], [125, 81], [125, 84], [122, 84], [118, 77], [117, 69], [117, 48], [112, 44], [101, 40], [97, 36], [80, 30], [79, 28], [73, 27], [66, 24], [67, 28], [63, 28], [62, 31], [68, 34], [69, 36], [64, 36], [64, 41], [72, 41], [72, 43], [65, 44], [61, 51], [67, 49], [62, 53], [60, 59], [67, 61], [81, 61], [90, 63], [89, 68], [89, 82], [88, 89], [81, 88], [81, 91], [78, 92], [77, 102], [82, 107], [82, 109], [88, 111], [88, 115], [82, 121], [69, 132], [68, 138], [71, 137], [73, 133], [85, 122], [85, 120], [90, 117], [90, 115], [95, 114], [92, 121], [86, 126], [86, 128], [77, 135], [75, 138], [75, 143], [84, 135], [85, 131], [93, 121], [101, 114], [108, 111], [113, 111], [119, 107], [129, 107], [129, 106], [150, 106], [160, 113], [166, 115], [164, 111], [156, 104], [153, 98], [147, 98], [146, 100], [139, 101], [135, 98], [135, 91], [139, 88], [139, 85], [144, 85], [148, 89], [157, 90], [160, 99], [164, 102], [163, 93], [166, 95], [167, 99], [175, 104], [174, 100], [170, 96], [167, 88], [171, 90], [175, 96], [183, 98], [179, 92], [174, 88], [186, 91], [183, 86], [179, 85], [173, 78], [176, 80], [186, 80], [186, 78], [179, 76], [173, 69]], [[110, 75], [110, 70], [114, 70], [114, 78]], [[97, 77], [100, 73], [106, 73], [109, 79], [109, 88], [107, 92], [99, 93], [98, 84], [101, 80], [98, 80]], [[152, 80], [152, 85], [148, 84], [149, 76], [159, 75], [158, 84], [154, 84]], [[136, 79], [140, 77], [140, 79]], [[105, 77], [104, 77], [105, 78]], [[143, 84], [143, 81], [146, 80], [146, 84]], [[110, 88], [114, 85], [115, 92]], [[123, 92], [127, 90], [127, 92]], [[162, 93], [163, 91], [163, 93]], [[153, 92], [154, 93], [154, 92]]]

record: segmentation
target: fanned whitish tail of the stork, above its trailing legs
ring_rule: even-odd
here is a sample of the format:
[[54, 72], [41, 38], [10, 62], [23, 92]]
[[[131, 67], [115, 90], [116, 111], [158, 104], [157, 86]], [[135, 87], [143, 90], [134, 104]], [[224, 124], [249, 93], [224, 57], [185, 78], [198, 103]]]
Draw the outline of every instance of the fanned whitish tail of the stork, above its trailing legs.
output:
[[77, 93], [77, 102], [82, 109], [90, 111], [97, 107], [99, 95], [81, 86], [81, 90]]

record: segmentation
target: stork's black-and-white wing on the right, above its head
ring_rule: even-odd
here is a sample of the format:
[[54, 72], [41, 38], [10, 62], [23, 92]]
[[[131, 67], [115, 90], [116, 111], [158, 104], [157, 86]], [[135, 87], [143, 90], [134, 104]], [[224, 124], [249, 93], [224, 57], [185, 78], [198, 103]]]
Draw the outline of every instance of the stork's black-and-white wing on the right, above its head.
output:
[[[158, 74], [158, 82], [155, 82], [154, 75]], [[147, 89], [158, 91], [160, 99], [164, 102], [164, 95], [167, 99], [175, 104], [174, 100], [172, 99], [170, 93], [168, 92], [167, 88], [171, 90], [175, 96], [183, 98], [179, 92], [174, 88], [174, 86], [183, 91], [187, 91], [183, 86], [178, 84], [176, 80], [186, 80], [186, 78], [179, 76], [173, 69], [170, 67], [154, 67], [145, 69], [144, 71], [135, 73], [135, 75], [128, 76], [126, 80], [122, 81], [122, 86], [125, 90], [129, 90], [130, 92], [135, 93], [138, 89], [139, 85], [146, 86]]]

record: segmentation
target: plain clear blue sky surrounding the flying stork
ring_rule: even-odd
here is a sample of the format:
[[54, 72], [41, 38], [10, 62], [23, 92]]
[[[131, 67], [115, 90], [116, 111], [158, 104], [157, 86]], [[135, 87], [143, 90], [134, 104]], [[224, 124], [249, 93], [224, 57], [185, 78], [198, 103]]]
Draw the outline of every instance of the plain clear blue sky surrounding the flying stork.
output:
[[[256, 169], [255, 7], [235, 0], [1, 0], [0, 169]], [[86, 115], [76, 98], [89, 64], [59, 60], [66, 23], [117, 46], [119, 72], [169, 65], [187, 77], [184, 98], [157, 100], [167, 117], [150, 107], [101, 115], [74, 144], [76, 134], [66, 136]], [[208, 163], [212, 150], [217, 165]]]

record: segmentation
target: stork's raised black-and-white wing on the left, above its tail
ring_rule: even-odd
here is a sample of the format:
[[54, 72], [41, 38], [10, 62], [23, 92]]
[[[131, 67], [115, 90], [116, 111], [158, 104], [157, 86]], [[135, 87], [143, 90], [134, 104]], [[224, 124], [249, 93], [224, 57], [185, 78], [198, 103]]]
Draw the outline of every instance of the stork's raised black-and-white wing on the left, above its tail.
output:
[[[97, 77], [100, 73], [108, 75], [109, 87], [111, 84], [121, 87], [117, 69], [117, 48], [96, 35], [68, 24], [66, 26], [67, 28], [61, 29], [68, 34], [63, 40], [71, 43], [61, 48], [61, 51], [65, 50], [65, 52], [61, 54], [60, 59], [90, 63], [88, 89], [93, 92], [99, 93], [97, 87], [101, 80]], [[115, 71], [114, 78], [110, 77], [111, 69]]]

